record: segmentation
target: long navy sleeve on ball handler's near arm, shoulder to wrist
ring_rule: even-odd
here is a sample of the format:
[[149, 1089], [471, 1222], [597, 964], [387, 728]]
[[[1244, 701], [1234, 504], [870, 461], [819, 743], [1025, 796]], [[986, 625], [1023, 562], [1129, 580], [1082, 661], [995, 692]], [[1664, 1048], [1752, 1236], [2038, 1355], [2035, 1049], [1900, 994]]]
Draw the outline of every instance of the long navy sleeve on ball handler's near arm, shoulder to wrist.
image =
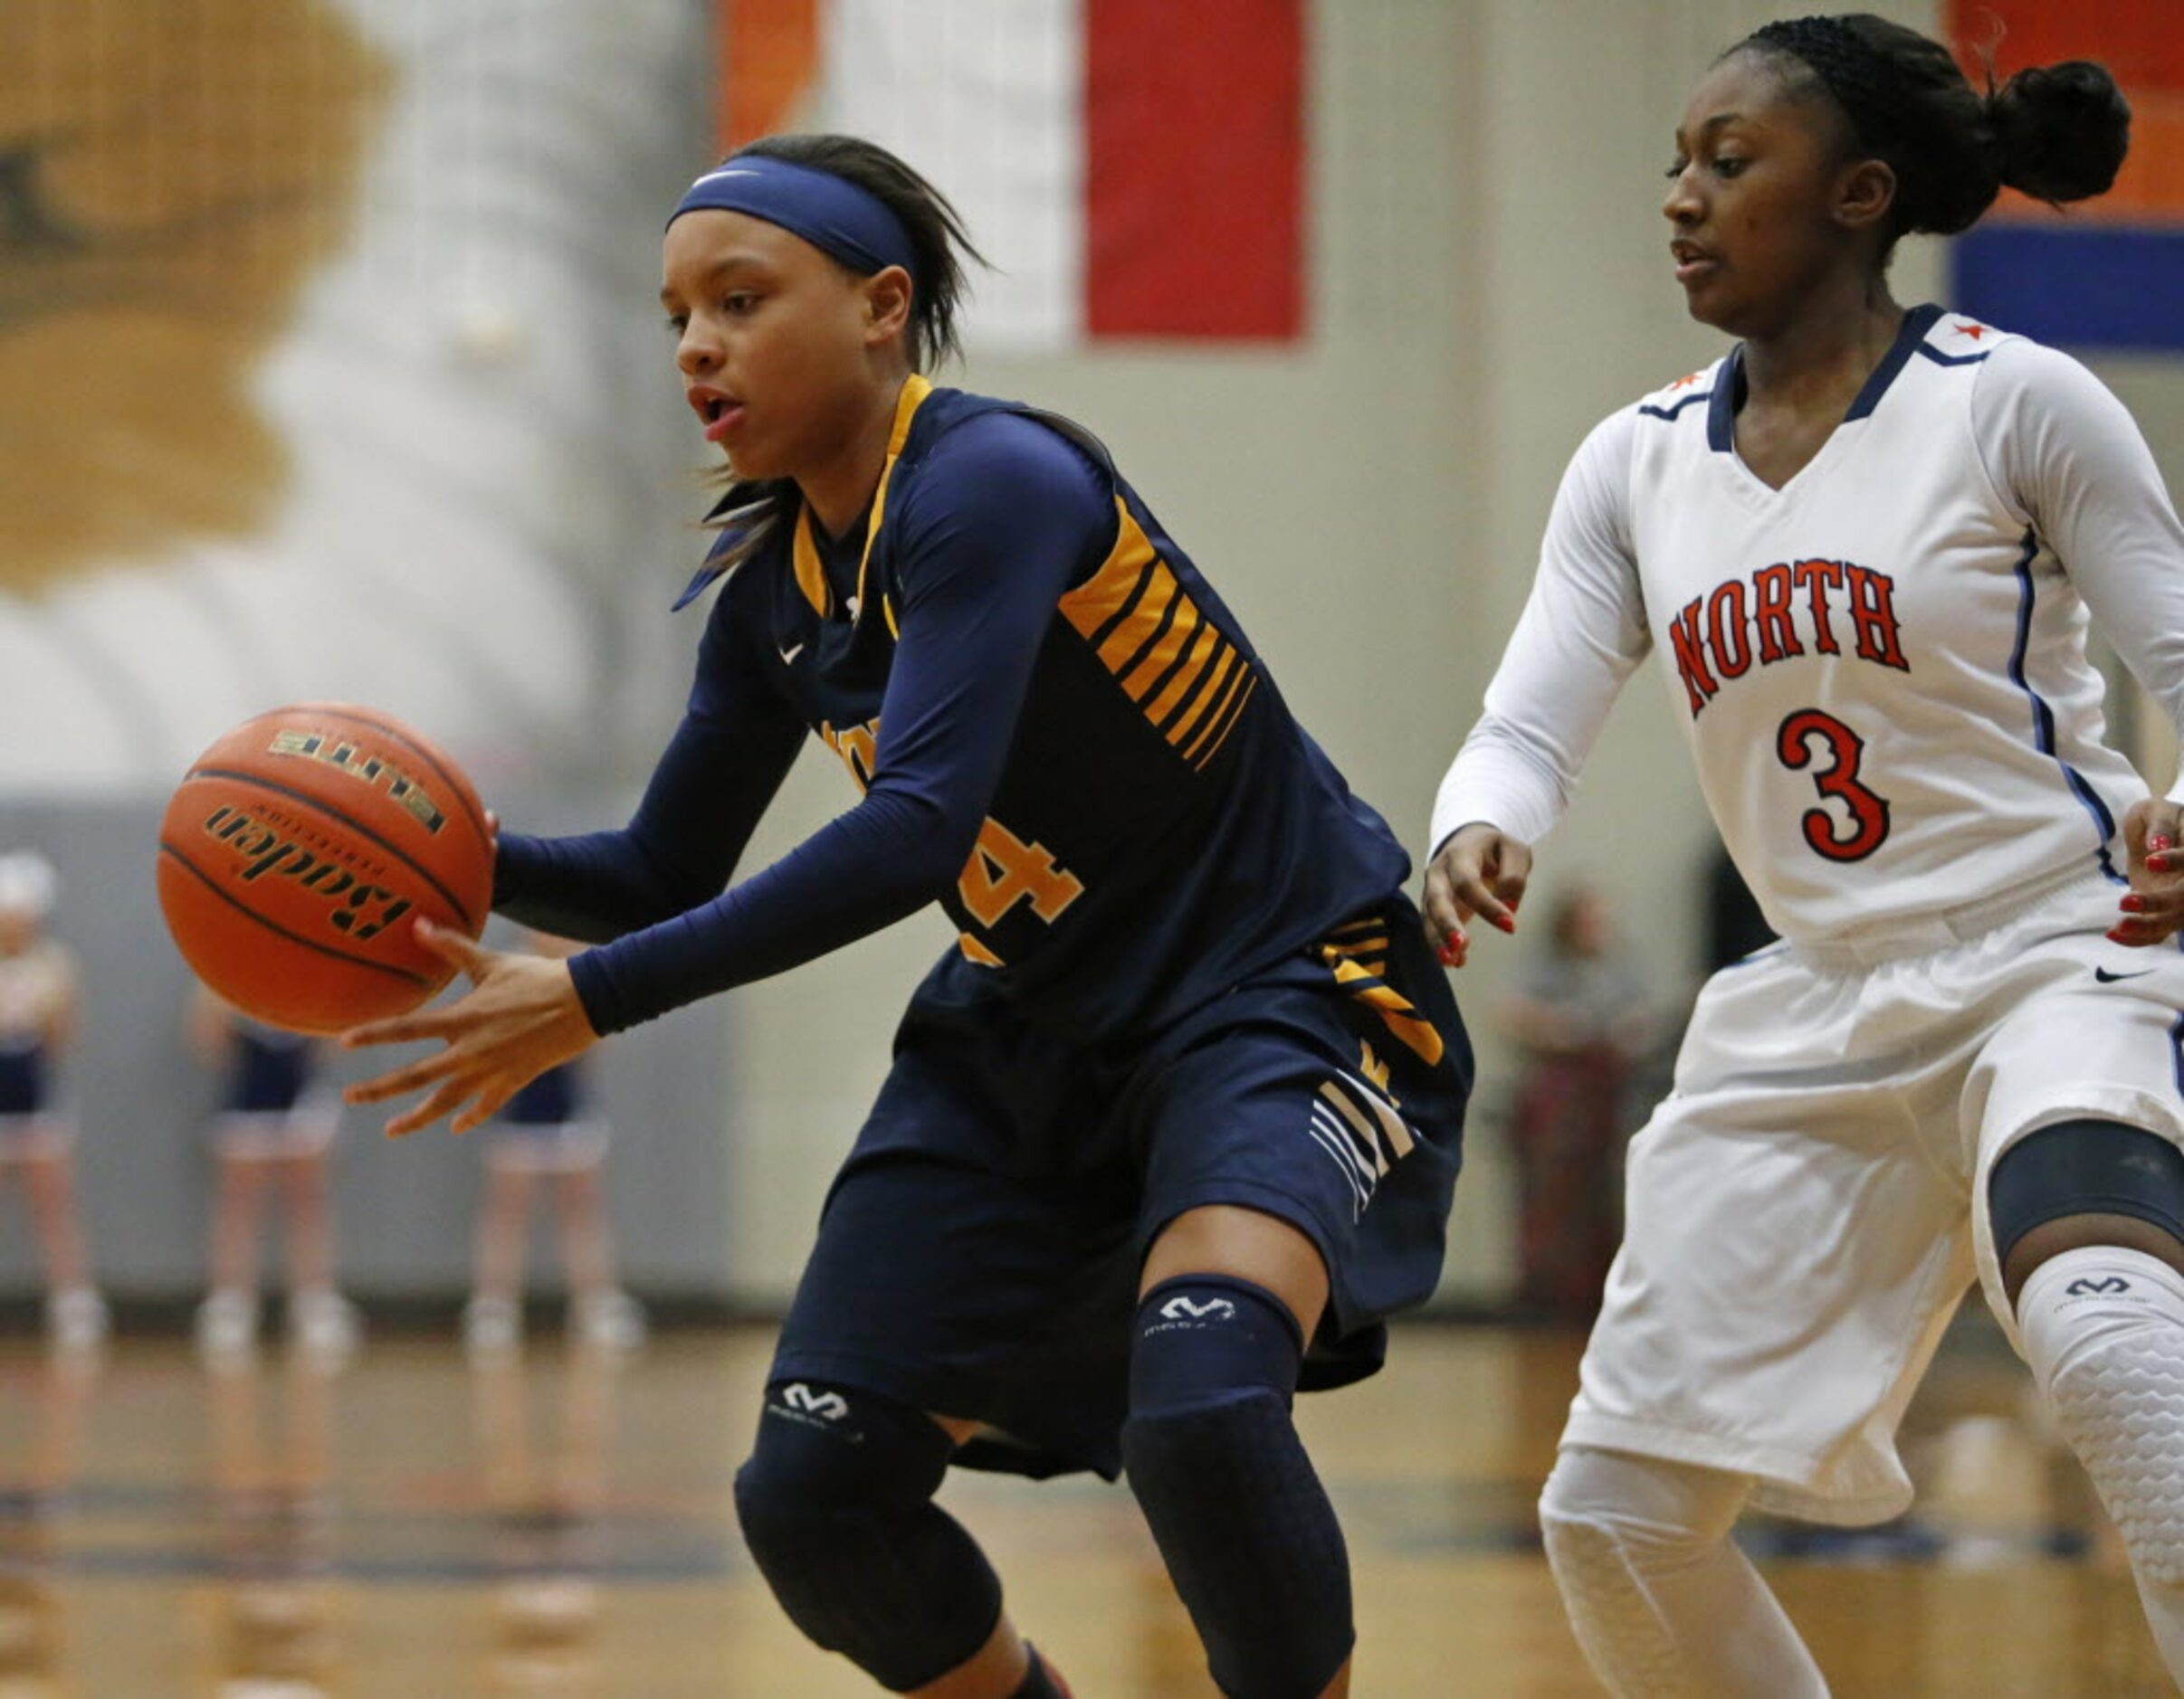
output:
[[987, 415], [935, 445], [895, 524], [902, 631], [865, 799], [705, 906], [574, 957], [598, 1033], [878, 932], [963, 871], [1055, 603], [1112, 544], [1114, 500], [1046, 426]]

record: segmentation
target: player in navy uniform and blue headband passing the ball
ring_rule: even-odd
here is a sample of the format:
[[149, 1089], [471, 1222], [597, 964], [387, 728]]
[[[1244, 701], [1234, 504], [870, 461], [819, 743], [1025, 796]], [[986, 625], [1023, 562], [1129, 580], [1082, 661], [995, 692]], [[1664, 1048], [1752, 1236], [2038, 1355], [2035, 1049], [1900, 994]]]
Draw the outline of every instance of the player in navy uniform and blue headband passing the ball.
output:
[[[935, 389], [965, 249], [847, 138], [771, 138], [666, 229], [688, 400], [734, 470], [697, 684], [618, 832], [502, 834], [566, 965], [428, 932], [476, 989], [352, 1042], [356, 1090], [489, 1116], [598, 1035], [939, 902], [782, 1332], [745, 1537], [893, 1690], [1064, 1692], [930, 1496], [950, 1461], [1127, 1465], [1230, 1695], [1348, 1692], [1348, 1559], [1291, 1426], [1435, 1284], [1470, 1055], [1402, 850], [1081, 428]], [[863, 801], [723, 893], [808, 734]]]

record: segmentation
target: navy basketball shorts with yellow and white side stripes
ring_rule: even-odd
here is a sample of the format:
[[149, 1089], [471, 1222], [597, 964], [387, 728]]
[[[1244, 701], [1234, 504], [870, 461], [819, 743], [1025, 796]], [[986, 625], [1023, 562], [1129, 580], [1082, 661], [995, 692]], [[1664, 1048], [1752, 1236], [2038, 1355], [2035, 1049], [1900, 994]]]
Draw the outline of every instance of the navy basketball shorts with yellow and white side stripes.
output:
[[1302, 1229], [1330, 1302], [1299, 1385], [1374, 1374], [1441, 1273], [1472, 1057], [1391, 895], [1133, 1050], [1029, 1026], [943, 961], [836, 1175], [773, 1380], [983, 1422], [957, 1461], [1120, 1470], [1138, 1271], [1186, 1210]]

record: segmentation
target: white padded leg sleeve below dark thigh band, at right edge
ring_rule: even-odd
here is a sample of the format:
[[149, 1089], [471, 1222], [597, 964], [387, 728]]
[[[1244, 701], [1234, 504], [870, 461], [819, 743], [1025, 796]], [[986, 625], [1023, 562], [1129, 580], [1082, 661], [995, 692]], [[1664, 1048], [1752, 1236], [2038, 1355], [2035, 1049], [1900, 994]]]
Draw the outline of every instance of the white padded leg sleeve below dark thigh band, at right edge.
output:
[[2051, 1256], [2018, 1293], [2018, 1332], [2184, 1684], [2184, 1275], [2145, 1251]]

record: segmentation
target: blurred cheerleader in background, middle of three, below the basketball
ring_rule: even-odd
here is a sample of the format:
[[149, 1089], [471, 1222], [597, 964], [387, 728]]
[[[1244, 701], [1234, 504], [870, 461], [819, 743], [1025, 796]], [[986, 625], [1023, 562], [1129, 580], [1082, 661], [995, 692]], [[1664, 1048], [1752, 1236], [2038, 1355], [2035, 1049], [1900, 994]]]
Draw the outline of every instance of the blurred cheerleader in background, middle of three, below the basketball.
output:
[[236, 1363], [258, 1345], [258, 1214], [271, 1188], [288, 1258], [288, 1339], [321, 1361], [343, 1358], [358, 1323], [334, 1288], [328, 1177], [341, 1112], [317, 1083], [319, 1046], [205, 987], [190, 1000], [188, 1037], [223, 1081], [212, 1120], [212, 1291], [197, 1308], [197, 1347], [210, 1363]]

